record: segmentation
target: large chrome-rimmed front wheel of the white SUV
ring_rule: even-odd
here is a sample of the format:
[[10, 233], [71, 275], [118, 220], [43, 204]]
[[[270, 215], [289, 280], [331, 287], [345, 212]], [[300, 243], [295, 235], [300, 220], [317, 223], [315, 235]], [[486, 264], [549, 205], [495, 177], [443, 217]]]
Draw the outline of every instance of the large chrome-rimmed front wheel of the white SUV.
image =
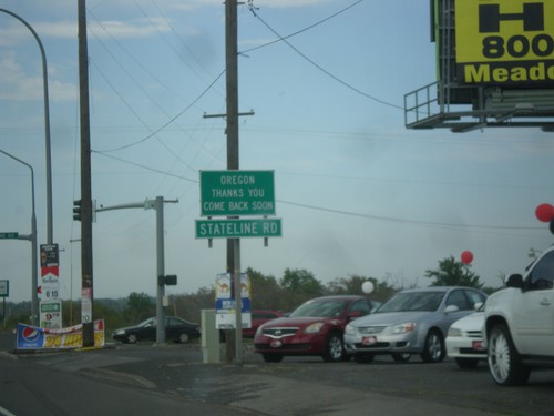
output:
[[530, 368], [522, 364], [507, 326], [504, 324], [493, 326], [488, 341], [489, 371], [494, 382], [501, 386], [525, 384]]

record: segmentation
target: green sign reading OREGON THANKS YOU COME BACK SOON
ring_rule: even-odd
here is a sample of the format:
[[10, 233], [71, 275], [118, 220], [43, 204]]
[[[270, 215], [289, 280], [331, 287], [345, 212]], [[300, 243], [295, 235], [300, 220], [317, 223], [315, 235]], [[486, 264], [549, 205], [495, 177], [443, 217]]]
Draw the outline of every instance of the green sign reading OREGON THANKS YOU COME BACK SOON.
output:
[[274, 171], [201, 171], [201, 215], [275, 215]]

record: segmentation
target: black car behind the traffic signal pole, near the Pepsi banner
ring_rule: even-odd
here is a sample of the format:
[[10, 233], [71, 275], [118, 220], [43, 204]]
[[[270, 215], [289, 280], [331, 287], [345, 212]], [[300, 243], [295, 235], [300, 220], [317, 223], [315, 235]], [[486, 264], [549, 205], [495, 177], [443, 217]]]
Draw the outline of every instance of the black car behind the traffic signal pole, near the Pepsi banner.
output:
[[[178, 317], [165, 317], [166, 341], [187, 343], [189, 339], [198, 338], [199, 336], [198, 324], [193, 324]], [[115, 329], [112, 333], [112, 338], [125, 344], [134, 344], [138, 341], [156, 341], [156, 318], [151, 317], [136, 326]]]

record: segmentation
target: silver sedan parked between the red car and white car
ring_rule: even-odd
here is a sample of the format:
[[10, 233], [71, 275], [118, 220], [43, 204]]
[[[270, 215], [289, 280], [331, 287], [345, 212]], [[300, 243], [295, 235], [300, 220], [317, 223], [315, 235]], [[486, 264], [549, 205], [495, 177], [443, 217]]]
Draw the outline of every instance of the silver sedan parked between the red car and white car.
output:
[[439, 363], [445, 356], [450, 325], [475, 312], [475, 304], [485, 300], [483, 292], [471, 287], [402, 291], [376, 313], [349, 323], [345, 348], [358, 363], [370, 363], [378, 354], [390, 354], [397, 362], [420, 354], [425, 363]]

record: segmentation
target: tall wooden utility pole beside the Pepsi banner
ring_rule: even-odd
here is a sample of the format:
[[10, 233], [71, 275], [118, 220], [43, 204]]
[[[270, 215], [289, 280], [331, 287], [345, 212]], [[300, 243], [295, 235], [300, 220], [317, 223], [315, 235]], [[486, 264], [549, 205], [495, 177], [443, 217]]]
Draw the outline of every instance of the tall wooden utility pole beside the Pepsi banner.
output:
[[91, 126], [89, 112], [89, 48], [86, 41], [86, 4], [79, 0], [79, 91], [81, 114], [81, 322], [83, 347], [94, 346], [92, 314], [92, 190], [91, 190]]

